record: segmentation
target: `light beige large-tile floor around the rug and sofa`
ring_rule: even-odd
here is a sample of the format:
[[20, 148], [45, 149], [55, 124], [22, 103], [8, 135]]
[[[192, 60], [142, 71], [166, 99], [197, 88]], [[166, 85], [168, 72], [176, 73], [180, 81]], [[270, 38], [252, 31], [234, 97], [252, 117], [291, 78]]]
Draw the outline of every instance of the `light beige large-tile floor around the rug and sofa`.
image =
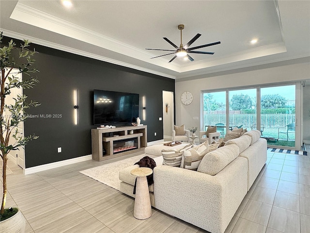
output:
[[[21, 208], [27, 233], [206, 233], [154, 208], [150, 218], [138, 220], [133, 216], [134, 199], [79, 173], [126, 157], [90, 160], [26, 176], [10, 162], [14, 174], [7, 177], [6, 207]], [[226, 233], [256, 232], [310, 233], [309, 156], [268, 154], [226, 229]]]

